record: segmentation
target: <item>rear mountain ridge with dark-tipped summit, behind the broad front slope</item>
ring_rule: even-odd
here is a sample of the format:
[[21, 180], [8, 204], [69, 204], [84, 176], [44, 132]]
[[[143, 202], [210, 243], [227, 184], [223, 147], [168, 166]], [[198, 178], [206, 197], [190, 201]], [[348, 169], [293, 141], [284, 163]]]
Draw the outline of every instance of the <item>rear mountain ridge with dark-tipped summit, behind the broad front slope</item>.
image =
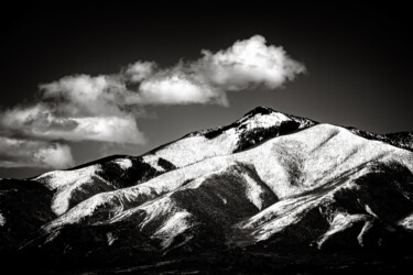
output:
[[246, 150], [313, 124], [308, 119], [259, 107], [230, 125], [191, 133], [142, 157], [111, 156], [69, 170], [50, 172], [34, 180], [54, 190], [52, 209], [63, 215], [96, 194], [138, 185], [176, 167]]

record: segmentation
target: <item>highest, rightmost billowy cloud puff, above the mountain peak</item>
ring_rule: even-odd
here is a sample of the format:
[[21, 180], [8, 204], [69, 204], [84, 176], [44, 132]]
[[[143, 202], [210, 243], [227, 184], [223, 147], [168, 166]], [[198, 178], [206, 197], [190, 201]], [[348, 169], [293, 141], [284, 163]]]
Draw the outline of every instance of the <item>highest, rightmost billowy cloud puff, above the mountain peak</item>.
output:
[[282, 47], [265, 43], [264, 37], [256, 35], [216, 54], [204, 50], [204, 57], [194, 65], [194, 70], [204, 73], [211, 85], [222, 90], [257, 85], [274, 89], [305, 72], [304, 65], [290, 58]]

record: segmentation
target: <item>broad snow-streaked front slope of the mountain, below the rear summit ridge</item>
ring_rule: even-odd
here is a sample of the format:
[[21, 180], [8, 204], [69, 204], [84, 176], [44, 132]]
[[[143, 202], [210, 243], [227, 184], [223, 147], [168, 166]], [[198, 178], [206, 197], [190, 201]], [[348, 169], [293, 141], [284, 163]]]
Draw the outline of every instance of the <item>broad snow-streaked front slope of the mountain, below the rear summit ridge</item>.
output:
[[[124, 228], [133, 228], [151, 251], [384, 245], [410, 237], [412, 172], [413, 153], [318, 124], [98, 194], [46, 223], [34, 244], [118, 251], [131, 242]], [[67, 237], [79, 230], [107, 238], [90, 246]]]

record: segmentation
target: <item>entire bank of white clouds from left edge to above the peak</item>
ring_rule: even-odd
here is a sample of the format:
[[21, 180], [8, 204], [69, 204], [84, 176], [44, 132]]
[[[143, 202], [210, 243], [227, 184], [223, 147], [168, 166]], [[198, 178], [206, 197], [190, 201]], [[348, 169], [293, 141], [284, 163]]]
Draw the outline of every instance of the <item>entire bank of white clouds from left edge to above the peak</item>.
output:
[[[70, 142], [144, 143], [137, 119], [145, 106], [229, 106], [228, 92], [257, 92], [258, 86], [275, 89], [304, 72], [304, 65], [282, 47], [267, 45], [264, 37], [254, 35], [216, 53], [203, 50], [200, 58], [167, 68], [140, 61], [112, 75], [66, 76], [40, 85], [39, 102], [1, 112], [0, 139], [3, 151], [12, 140], [21, 141], [32, 156], [23, 158], [33, 165], [64, 167], [73, 163]], [[55, 161], [59, 157], [62, 163]]]

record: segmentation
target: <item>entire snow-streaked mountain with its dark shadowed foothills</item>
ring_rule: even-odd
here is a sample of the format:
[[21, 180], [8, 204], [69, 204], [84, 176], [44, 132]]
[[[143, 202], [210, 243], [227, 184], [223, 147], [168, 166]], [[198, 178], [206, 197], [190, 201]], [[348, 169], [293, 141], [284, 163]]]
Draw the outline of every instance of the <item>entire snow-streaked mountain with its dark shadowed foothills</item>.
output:
[[[412, 136], [259, 107], [142, 156], [2, 179], [0, 248], [45, 270], [132, 272], [183, 272], [180, 263], [242, 272], [250, 261], [290, 271], [296, 258], [355, 266], [371, 251], [409, 256]], [[343, 261], [315, 258], [329, 251]]]

